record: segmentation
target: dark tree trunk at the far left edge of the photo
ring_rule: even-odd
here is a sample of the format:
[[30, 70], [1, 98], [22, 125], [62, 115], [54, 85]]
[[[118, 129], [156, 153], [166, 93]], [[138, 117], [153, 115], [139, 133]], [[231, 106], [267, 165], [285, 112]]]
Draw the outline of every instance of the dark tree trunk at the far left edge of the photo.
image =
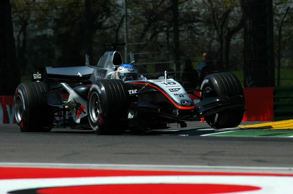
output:
[[1, 4], [0, 35], [3, 42], [0, 45], [0, 50], [3, 56], [0, 64], [0, 96], [10, 96], [14, 94], [21, 78], [13, 37], [11, 4], [9, 0], [3, 0]]

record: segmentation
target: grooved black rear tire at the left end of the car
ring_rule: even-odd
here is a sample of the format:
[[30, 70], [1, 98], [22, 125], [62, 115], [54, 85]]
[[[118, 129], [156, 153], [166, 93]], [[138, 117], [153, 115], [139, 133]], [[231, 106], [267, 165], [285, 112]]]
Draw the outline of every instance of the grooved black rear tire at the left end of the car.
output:
[[43, 92], [50, 88], [45, 82], [25, 82], [18, 85], [14, 96], [14, 118], [21, 132], [50, 132], [53, 128], [53, 107]]

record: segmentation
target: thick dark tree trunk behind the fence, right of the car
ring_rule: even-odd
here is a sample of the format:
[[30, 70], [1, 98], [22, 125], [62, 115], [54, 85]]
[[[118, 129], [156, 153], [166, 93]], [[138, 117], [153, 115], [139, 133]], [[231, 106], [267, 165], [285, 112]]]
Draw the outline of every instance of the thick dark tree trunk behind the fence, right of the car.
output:
[[[270, 2], [271, 1], [271, 5]], [[269, 51], [267, 7], [272, 0], [242, 0], [244, 26], [244, 87], [269, 87], [274, 84], [273, 61]]]

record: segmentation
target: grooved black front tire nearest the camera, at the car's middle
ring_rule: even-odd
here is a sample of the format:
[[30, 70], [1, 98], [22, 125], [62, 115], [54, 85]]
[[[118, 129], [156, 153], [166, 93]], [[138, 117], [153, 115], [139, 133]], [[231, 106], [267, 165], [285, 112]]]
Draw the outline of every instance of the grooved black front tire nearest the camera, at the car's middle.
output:
[[127, 118], [129, 107], [129, 93], [121, 80], [100, 79], [95, 81], [89, 89], [88, 120], [91, 128], [98, 135], [118, 135], [124, 132], [127, 122], [119, 119]]

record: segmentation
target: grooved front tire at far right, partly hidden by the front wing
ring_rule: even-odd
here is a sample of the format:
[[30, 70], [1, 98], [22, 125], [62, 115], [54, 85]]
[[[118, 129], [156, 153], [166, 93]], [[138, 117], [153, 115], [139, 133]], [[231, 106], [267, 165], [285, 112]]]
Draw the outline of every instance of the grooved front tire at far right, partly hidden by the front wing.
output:
[[[206, 76], [201, 84], [201, 89], [211, 89], [216, 96], [234, 97], [243, 95], [243, 87], [239, 79], [232, 73], [216, 73]], [[245, 99], [243, 99], [245, 107]], [[205, 120], [213, 129], [237, 127], [243, 119], [244, 111], [239, 109], [228, 109], [217, 114], [206, 116]]]

